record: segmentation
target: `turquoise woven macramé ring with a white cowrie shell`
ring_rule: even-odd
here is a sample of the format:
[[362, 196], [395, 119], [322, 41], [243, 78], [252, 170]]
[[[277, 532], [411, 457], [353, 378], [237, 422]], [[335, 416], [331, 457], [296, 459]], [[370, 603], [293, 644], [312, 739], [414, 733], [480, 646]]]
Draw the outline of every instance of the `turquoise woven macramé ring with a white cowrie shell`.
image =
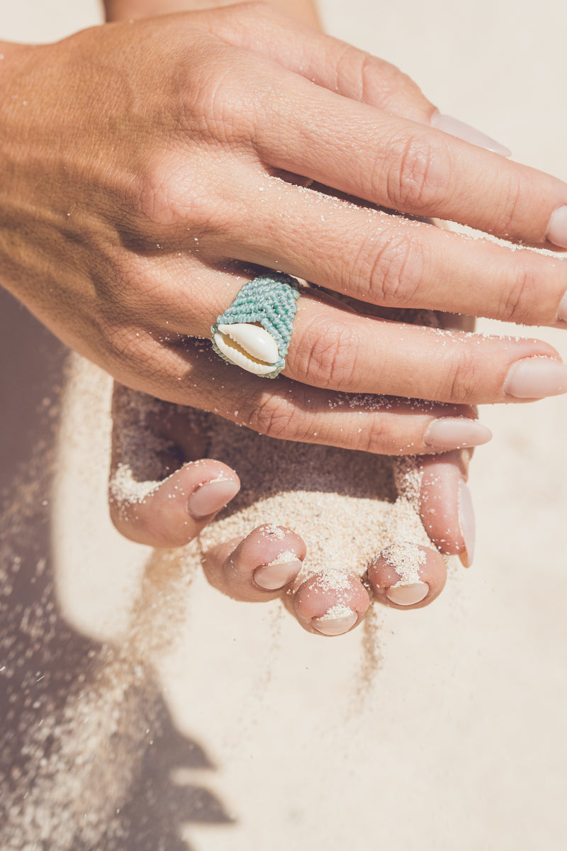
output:
[[286, 365], [298, 297], [298, 281], [290, 275], [245, 283], [211, 328], [214, 351], [247, 372], [275, 378]]

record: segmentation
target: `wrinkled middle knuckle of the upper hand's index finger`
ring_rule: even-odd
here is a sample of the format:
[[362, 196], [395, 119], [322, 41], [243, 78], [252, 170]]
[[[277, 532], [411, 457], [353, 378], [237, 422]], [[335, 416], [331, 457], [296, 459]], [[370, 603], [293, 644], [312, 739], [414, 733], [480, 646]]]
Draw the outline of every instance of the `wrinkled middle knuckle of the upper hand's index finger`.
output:
[[[438, 142], [436, 147], [419, 134], [394, 136], [384, 161], [391, 163], [387, 194], [394, 209], [433, 215], [443, 202], [450, 184], [450, 157]], [[389, 153], [389, 155], [388, 155]]]

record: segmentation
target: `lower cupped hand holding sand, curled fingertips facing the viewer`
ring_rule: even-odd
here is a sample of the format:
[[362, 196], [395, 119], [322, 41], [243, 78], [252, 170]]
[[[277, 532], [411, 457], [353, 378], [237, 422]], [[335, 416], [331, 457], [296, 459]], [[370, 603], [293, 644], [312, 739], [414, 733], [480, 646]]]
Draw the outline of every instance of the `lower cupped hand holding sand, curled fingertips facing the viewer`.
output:
[[[360, 454], [349, 454], [349, 459], [355, 459], [355, 492], [359, 496], [373, 494], [377, 505], [391, 500], [388, 486], [384, 490], [377, 488], [377, 475], [384, 476], [386, 483], [393, 473], [399, 497], [405, 494], [401, 501], [388, 505], [387, 534], [379, 523], [376, 525], [373, 514], [356, 526], [357, 546], [372, 553], [365, 565], [364, 561], [359, 564], [357, 558], [351, 561], [352, 552], [347, 558], [333, 537], [332, 523], [337, 523], [337, 518], [333, 521], [330, 505], [334, 503], [329, 503], [325, 494], [316, 493], [324, 481], [321, 468], [325, 466], [318, 455], [313, 462], [317, 448], [309, 448], [312, 463], [304, 465], [307, 478], [298, 483], [298, 444], [294, 447], [292, 443], [266, 441], [258, 435], [251, 437], [246, 430], [239, 431], [240, 442], [232, 432], [227, 440], [223, 420], [181, 405], [162, 403], [119, 385], [115, 385], [113, 414], [109, 495], [116, 528], [131, 540], [160, 549], [189, 544], [204, 532], [198, 551], [212, 585], [236, 600], [262, 603], [280, 598], [308, 631], [324, 635], [349, 631], [363, 619], [371, 599], [394, 608], [421, 608], [432, 603], [445, 585], [446, 565], [439, 551], [459, 554], [465, 565], [472, 561], [473, 518], [465, 484], [469, 450], [424, 456], [416, 460], [415, 466], [412, 462], [402, 465], [399, 474], [395, 473], [396, 460], [376, 468], [367, 467], [365, 460], [366, 478], [364, 474], [359, 478]], [[223, 461], [208, 457], [211, 442]], [[332, 453], [325, 456], [329, 470], [347, 464], [340, 450]], [[240, 481], [233, 469], [235, 460], [244, 471], [241, 497], [236, 497]], [[296, 465], [291, 478], [285, 472], [287, 465]], [[349, 477], [346, 469], [343, 475]], [[268, 483], [272, 478], [275, 492]], [[420, 480], [419, 493], [414, 493]], [[291, 482], [292, 490], [288, 490]], [[345, 511], [353, 509], [347, 495], [352, 497], [352, 486], [351, 478], [343, 496], [337, 496], [339, 501], [344, 500]], [[277, 518], [295, 517], [297, 522], [293, 494], [295, 490], [314, 487], [309, 504], [300, 502], [301, 534], [306, 536], [301, 537]], [[411, 497], [405, 493], [407, 487], [411, 488]], [[257, 496], [262, 494], [267, 501], [260, 499], [246, 522], [242, 523], [241, 517], [235, 523], [235, 517], [246, 514], [251, 507], [250, 495], [255, 488]], [[286, 496], [291, 503], [286, 503]], [[224, 518], [219, 518], [220, 527], [207, 531], [208, 524], [233, 497], [235, 504], [229, 506]], [[412, 511], [421, 516], [427, 534], [419, 533], [412, 525], [408, 499], [412, 500]], [[271, 504], [274, 500], [276, 506]], [[361, 511], [360, 505], [358, 510]], [[266, 513], [270, 522], [258, 525]], [[395, 517], [400, 520], [399, 528]], [[223, 526], [227, 519], [228, 528]], [[252, 519], [254, 522], [250, 523]], [[421, 541], [417, 584], [415, 577], [408, 581], [404, 570], [400, 574], [400, 564], [418, 556], [416, 545], [410, 545], [406, 537], [410, 528]], [[318, 530], [322, 530], [323, 540], [332, 541], [324, 546], [324, 557], [321, 542], [317, 543]], [[350, 527], [349, 537], [352, 534]], [[321, 569], [317, 568], [318, 559]], [[349, 608], [346, 614], [345, 607]]]

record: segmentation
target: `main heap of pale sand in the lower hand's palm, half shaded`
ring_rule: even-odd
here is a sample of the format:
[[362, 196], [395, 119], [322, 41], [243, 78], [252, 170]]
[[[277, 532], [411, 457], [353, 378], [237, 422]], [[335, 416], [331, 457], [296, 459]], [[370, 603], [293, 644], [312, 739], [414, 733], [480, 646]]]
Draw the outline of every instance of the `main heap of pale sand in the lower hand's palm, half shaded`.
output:
[[[276, 441], [213, 414], [191, 414], [208, 434], [211, 457], [234, 466], [241, 490], [203, 529], [203, 551], [266, 523], [301, 535], [307, 556], [300, 578], [362, 577], [368, 563], [394, 543], [430, 545], [419, 517], [420, 474], [412, 458]], [[405, 583], [404, 572], [400, 572]], [[411, 577], [410, 577], [411, 578]], [[415, 580], [411, 580], [415, 581]]]

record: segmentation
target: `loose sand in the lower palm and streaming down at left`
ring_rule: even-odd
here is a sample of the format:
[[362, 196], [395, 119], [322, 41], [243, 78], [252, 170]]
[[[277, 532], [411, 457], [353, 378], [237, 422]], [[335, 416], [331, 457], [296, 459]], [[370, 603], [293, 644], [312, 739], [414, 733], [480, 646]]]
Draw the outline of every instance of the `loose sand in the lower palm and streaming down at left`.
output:
[[[73, 387], [71, 375], [71, 392], [82, 387], [82, 411], [92, 410], [96, 397], [105, 395], [106, 380], [97, 380], [98, 371], [90, 365], [77, 358], [75, 363], [80, 364], [78, 381]], [[88, 390], [85, 374], [95, 377]], [[365, 399], [358, 403], [364, 407]], [[376, 398], [369, 397], [368, 404], [376, 405]], [[122, 502], [145, 500], [159, 482], [160, 458], [171, 447], [156, 438], [149, 420], [155, 423], [161, 408], [162, 403], [141, 394], [127, 391], [124, 396], [121, 463], [111, 483]], [[14, 622], [13, 638], [7, 635], [3, 642], [12, 647], [3, 677], [14, 704], [4, 736], [5, 764], [9, 771], [11, 767], [3, 783], [7, 851], [117, 851], [134, 830], [133, 799], [139, 810], [151, 811], [152, 799], [143, 797], [137, 783], [163, 725], [156, 671], [173, 650], [186, 617], [201, 551], [260, 525], [293, 528], [308, 548], [304, 575], [321, 574], [338, 591], [334, 616], [342, 614], [340, 590], [347, 574], [363, 577], [367, 563], [384, 547], [390, 546], [388, 559], [399, 568], [400, 581], [414, 580], [408, 554], [416, 551], [416, 544], [427, 545], [428, 537], [417, 513], [419, 474], [413, 460], [283, 443], [212, 414], [183, 409], [183, 415], [190, 428], [206, 437], [207, 454], [235, 467], [241, 491], [200, 540], [150, 556], [120, 643], [83, 647], [60, 618], [50, 579], [41, 604], [30, 614], [33, 635], [30, 618], [21, 618], [12, 608], [15, 616], [6, 626], [9, 632], [9, 622]], [[71, 432], [77, 427], [67, 425]], [[47, 466], [46, 455], [40, 454], [37, 469], [45, 472]], [[43, 486], [33, 471], [31, 479], [27, 499], [33, 505]], [[16, 515], [21, 532], [26, 525], [21, 505]], [[5, 544], [3, 555], [17, 574], [17, 553]], [[39, 560], [36, 575], [42, 572], [45, 562]], [[7, 591], [8, 585], [4, 592], [10, 607]], [[370, 623], [371, 617], [366, 620]], [[379, 636], [372, 631], [370, 644], [368, 636], [366, 631], [366, 657], [375, 663]], [[24, 683], [17, 671], [29, 646], [34, 654], [26, 663], [30, 671]], [[70, 661], [71, 651], [77, 660]], [[147, 842], [139, 839], [139, 851], [150, 851]]]

